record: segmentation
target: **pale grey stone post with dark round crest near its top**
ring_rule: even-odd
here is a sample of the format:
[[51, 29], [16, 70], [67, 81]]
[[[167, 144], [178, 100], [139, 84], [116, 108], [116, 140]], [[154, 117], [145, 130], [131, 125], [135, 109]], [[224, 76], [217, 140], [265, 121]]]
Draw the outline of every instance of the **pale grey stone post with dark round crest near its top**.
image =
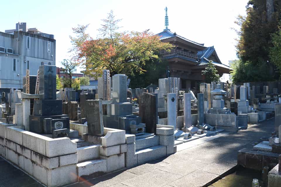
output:
[[177, 129], [177, 101], [176, 93], [168, 93], [168, 125], [174, 126]]

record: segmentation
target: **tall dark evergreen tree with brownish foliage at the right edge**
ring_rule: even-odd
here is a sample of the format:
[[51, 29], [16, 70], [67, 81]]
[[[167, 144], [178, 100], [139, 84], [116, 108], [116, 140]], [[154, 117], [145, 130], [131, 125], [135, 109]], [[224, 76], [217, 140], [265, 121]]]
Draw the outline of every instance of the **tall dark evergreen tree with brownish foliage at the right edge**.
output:
[[[273, 46], [271, 34], [277, 31], [280, 20], [281, 2], [274, 1], [274, 12], [270, 19], [266, 2], [265, 0], [249, 0], [246, 6], [246, 16], [239, 15], [235, 22], [240, 27], [240, 30], [236, 30], [238, 34], [237, 56], [241, 59], [237, 67], [240, 70], [243, 69], [243, 71], [236, 71], [240, 71], [236, 74], [237, 80], [271, 81], [278, 77], [275, 65], [270, 59], [269, 50]], [[267, 73], [264, 73], [264, 68]]]

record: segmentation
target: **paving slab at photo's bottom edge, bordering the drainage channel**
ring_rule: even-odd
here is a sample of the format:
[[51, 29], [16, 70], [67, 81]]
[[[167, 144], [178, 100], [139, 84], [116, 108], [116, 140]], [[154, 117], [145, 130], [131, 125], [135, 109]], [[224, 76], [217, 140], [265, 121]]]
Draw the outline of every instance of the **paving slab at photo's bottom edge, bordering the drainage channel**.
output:
[[220, 178], [219, 175], [202, 171], [194, 171], [176, 181], [169, 183], [173, 187], [201, 187], [208, 186]]

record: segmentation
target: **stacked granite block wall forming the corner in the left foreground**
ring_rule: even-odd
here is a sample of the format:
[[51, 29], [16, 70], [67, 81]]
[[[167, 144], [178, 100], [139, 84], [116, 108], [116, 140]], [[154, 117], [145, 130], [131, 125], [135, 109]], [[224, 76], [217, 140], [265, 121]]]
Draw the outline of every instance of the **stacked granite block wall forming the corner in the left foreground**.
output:
[[78, 181], [77, 146], [69, 138], [48, 138], [0, 122], [0, 155], [46, 186]]

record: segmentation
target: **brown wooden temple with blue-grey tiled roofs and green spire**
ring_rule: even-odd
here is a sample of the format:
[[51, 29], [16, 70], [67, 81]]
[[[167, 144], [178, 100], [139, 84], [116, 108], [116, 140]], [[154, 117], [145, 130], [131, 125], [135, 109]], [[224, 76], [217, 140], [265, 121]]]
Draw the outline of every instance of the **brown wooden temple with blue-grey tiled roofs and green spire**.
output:
[[220, 77], [229, 74], [231, 68], [222, 64], [214, 46], [206, 47], [204, 44], [186, 39], [168, 29], [168, 16], [166, 7], [165, 29], [158, 33], [162, 42], [169, 42], [175, 46], [171, 51], [161, 51], [163, 58], [169, 62], [169, 76], [181, 78], [181, 90], [199, 89], [199, 84], [204, 82], [207, 63], [212, 60]]

